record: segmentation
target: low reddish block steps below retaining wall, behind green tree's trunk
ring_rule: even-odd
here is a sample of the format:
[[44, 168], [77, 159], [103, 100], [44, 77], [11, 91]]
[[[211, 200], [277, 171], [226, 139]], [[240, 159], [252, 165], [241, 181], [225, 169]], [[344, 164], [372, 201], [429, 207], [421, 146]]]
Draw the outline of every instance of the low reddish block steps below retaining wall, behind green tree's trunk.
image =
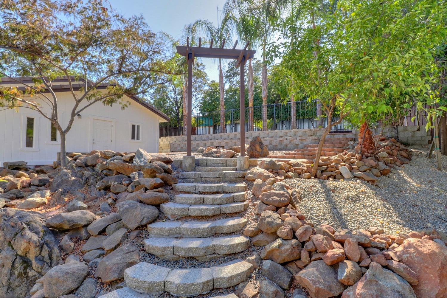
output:
[[[349, 133], [350, 134], [350, 133]], [[345, 133], [330, 134], [326, 137], [321, 156], [335, 156], [342, 153], [353, 139]], [[269, 155], [273, 159], [315, 159], [318, 144], [307, 144], [304, 148], [286, 151], [284, 155]]]

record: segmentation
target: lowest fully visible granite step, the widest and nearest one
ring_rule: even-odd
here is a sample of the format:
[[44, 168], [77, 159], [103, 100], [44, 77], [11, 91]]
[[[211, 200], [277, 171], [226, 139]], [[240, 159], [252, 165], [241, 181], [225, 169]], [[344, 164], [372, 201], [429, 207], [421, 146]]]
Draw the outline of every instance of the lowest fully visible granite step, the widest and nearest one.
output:
[[141, 293], [162, 294], [166, 291], [191, 297], [237, 285], [246, 281], [252, 271], [253, 265], [243, 260], [193, 269], [170, 269], [141, 262], [124, 271], [124, 280], [129, 288]]

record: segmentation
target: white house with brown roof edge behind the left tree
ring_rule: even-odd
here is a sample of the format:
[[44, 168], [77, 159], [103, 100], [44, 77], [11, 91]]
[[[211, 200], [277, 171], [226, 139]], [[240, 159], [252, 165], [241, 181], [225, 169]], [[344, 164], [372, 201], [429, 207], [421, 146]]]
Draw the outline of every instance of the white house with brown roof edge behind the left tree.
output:
[[[31, 78], [20, 80], [33, 84]], [[58, 98], [59, 119], [65, 128], [74, 100], [66, 79], [55, 80], [52, 84]], [[85, 83], [74, 82], [75, 92], [80, 92], [80, 84]], [[19, 85], [12, 79], [0, 79], [1, 87]], [[31, 99], [43, 111], [50, 111], [42, 95]], [[110, 107], [97, 102], [78, 114], [67, 134], [66, 151], [109, 149], [133, 152], [141, 147], [148, 152], [158, 152], [159, 123], [169, 121], [169, 117], [138, 97], [128, 99], [131, 104], [124, 110], [119, 104]], [[40, 113], [25, 107], [17, 110], [0, 108], [0, 165], [15, 160], [25, 160], [29, 165], [52, 164], [59, 151], [59, 133]]]

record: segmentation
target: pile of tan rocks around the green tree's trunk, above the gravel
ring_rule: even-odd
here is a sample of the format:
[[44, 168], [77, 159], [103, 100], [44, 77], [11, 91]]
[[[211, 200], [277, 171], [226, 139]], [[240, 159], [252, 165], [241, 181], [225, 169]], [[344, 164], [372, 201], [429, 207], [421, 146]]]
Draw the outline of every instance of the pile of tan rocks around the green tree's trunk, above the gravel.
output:
[[[348, 151], [331, 157], [321, 156], [316, 178], [326, 180], [358, 177], [374, 181], [382, 175], [388, 175], [392, 167], [408, 164], [410, 159], [411, 152], [408, 148], [402, 146], [395, 139], [389, 139], [387, 142], [380, 142], [375, 155], [369, 157]], [[298, 159], [287, 162], [268, 159], [262, 160], [258, 167], [272, 173], [279, 180], [285, 178], [309, 179], [312, 177], [313, 164]]]

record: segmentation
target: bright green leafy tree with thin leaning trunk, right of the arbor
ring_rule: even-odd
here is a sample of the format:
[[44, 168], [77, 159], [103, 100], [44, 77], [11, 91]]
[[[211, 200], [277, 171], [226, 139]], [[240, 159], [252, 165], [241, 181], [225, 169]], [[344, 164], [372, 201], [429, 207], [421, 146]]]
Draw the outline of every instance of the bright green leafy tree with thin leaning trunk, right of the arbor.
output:
[[[295, 97], [318, 99], [327, 116], [312, 176], [331, 128], [359, 107], [382, 111], [385, 117], [389, 97], [434, 101], [434, 49], [447, 33], [440, 11], [445, 4], [436, 0], [319, 0], [302, 1], [294, 18], [278, 19], [284, 41], [270, 53], [283, 58], [281, 67], [291, 73]], [[290, 38], [291, 32], [296, 38]], [[336, 113], [339, 117], [333, 118]]]

